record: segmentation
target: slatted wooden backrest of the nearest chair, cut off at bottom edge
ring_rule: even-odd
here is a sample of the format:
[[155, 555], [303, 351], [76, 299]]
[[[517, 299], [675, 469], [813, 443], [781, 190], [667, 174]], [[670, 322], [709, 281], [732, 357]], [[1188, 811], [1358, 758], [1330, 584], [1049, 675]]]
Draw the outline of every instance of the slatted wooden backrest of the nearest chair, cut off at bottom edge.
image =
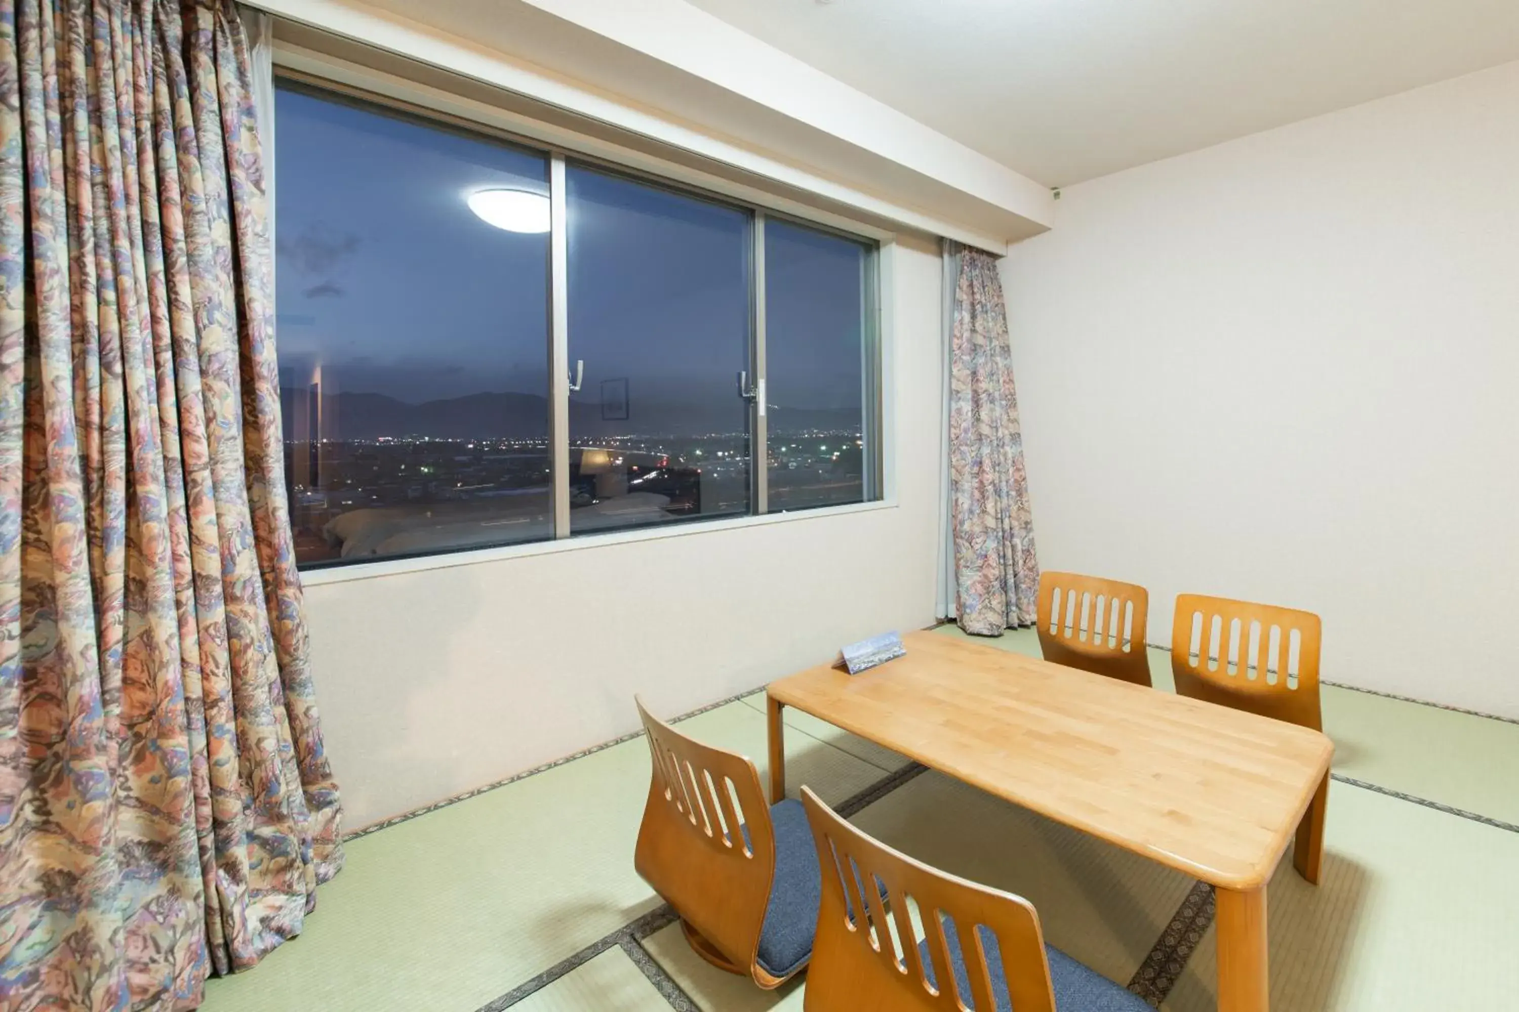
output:
[[[1039, 915], [1027, 900], [892, 850], [838, 818], [808, 787], [802, 804], [823, 869], [807, 1012], [996, 1009], [993, 963], [1016, 1012], [1054, 1012]], [[969, 994], [958, 994], [949, 939], [963, 954]]]

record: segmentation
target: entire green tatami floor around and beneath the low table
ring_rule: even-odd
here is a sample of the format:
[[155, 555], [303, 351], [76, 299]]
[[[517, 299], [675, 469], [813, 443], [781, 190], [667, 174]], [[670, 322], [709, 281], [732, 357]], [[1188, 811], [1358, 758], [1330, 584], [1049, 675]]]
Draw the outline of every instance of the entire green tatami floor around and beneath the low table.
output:
[[[987, 642], [1037, 654], [1031, 631]], [[1151, 669], [1168, 689], [1162, 651], [1151, 651]], [[746, 753], [764, 777], [763, 707], [761, 695], [746, 696], [681, 730]], [[1325, 689], [1325, 719], [1337, 775], [1519, 824], [1519, 725], [1335, 687]], [[788, 710], [787, 722], [793, 790], [807, 783], [838, 804], [905, 763], [804, 713]], [[633, 739], [352, 839], [305, 935], [249, 973], [213, 980], [202, 1007], [475, 1012], [530, 991], [510, 1007], [658, 1012], [671, 1007], [664, 986], [708, 1012], [799, 1012], [805, 980], [761, 992], [696, 957], [676, 924], [641, 945], [623, 938], [591, 950], [533, 989], [661, 907], [632, 868], [647, 789], [649, 751]], [[1027, 897], [1054, 945], [1120, 983], [1194, 885], [934, 772], [854, 821], [914, 857]], [[1271, 883], [1273, 1009], [1514, 1007], [1519, 831], [1337, 781], [1325, 866], [1317, 889], [1290, 862]], [[1212, 1009], [1212, 960], [1208, 929], [1164, 1007]]]

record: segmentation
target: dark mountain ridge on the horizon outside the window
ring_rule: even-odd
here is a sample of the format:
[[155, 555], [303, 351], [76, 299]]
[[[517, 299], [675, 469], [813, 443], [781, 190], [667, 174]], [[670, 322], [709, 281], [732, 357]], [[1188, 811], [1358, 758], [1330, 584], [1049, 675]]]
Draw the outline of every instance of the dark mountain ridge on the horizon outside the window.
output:
[[[293, 387], [286, 387], [279, 393], [289, 425], [295, 417], [296, 399], [305, 393]], [[629, 404], [627, 420], [603, 420], [600, 402], [571, 398], [570, 426], [574, 432], [592, 437], [627, 431], [667, 435], [737, 432], [744, 426], [744, 413], [743, 405], [735, 401], [659, 402], [639, 401], [635, 396]], [[325, 411], [331, 419], [328, 432], [337, 438], [548, 437], [548, 401], [530, 393], [471, 393], [463, 398], [407, 404], [383, 393], [345, 391], [327, 398]], [[855, 411], [770, 408], [772, 432], [837, 431], [857, 425], [860, 414]]]

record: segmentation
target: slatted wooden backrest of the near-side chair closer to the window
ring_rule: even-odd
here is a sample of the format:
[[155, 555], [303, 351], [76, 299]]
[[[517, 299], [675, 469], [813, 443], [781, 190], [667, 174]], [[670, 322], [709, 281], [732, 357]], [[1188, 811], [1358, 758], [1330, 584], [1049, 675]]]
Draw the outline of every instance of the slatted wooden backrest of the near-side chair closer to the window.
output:
[[744, 756], [693, 740], [635, 702], [653, 777], [633, 866], [728, 962], [775, 986], [755, 962], [775, 877], [760, 774]]

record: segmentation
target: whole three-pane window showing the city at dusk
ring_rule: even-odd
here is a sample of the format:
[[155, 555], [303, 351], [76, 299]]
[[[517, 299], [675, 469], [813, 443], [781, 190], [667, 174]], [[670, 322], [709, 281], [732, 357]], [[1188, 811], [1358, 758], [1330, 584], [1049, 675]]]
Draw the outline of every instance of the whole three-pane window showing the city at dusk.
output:
[[880, 498], [875, 244], [281, 79], [302, 567]]

